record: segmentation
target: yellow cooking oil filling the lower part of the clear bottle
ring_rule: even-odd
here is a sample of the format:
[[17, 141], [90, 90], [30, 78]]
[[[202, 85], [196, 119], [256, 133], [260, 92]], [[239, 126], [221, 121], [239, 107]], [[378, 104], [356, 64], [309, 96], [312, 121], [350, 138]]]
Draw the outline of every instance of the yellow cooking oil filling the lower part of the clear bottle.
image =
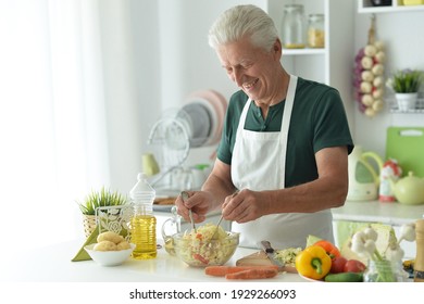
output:
[[157, 218], [153, 215], [135, 215], [132, 218], [132, 243], [136, 244], [133, 257], [149, 259], [157, 257]]

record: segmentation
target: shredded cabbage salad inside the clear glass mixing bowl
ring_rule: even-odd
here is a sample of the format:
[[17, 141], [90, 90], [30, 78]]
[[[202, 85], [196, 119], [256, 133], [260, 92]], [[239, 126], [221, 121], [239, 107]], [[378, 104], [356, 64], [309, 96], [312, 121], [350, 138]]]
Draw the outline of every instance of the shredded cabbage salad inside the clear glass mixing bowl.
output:
[[[197, 231], [186, 231], [176, 241], [177, 254], [186, 263], [194, 266], [222, 265], [229, 259], [237, 248], [238, 239], [216, 225], [205, 224]], [[211, 241], [212, 240], [212, 241]]]

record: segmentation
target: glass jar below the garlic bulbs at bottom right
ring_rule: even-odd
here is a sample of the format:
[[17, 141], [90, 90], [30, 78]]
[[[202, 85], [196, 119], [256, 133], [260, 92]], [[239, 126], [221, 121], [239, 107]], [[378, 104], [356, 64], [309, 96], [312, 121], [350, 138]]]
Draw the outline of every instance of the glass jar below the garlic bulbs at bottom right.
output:
[[403, 270], [401, 262], [370, 261], [363, 274], [364, 282], [406, 282], [408, 273]]

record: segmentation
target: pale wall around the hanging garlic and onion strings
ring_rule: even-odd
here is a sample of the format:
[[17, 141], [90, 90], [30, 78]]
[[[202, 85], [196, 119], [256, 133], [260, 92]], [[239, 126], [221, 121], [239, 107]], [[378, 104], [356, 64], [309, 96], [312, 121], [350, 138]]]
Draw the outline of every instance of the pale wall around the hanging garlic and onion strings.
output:
[[[356, 52], [367, 42], [370, 14], [356, 14]], [[377, 39], [386, 45], [386, 76], [397, 68], [424, 69], [424, 11], [376, 14]], [[352, 59], [353, 62], [353, 59]], [[352, 63], [353, 64], [353, 63]], [[387, 100], [386, 100], [387, 101]], [[353, 102], [353, 101], [352, 101]], [[387, 104], [386, 104], [387, 105]], [[388, 106], [374, 118], [354, 109], [354, 139], [365, 150], [385, 157], [386, 130], [389, 126], [424, 126], [424, 114], [392, 114]]]

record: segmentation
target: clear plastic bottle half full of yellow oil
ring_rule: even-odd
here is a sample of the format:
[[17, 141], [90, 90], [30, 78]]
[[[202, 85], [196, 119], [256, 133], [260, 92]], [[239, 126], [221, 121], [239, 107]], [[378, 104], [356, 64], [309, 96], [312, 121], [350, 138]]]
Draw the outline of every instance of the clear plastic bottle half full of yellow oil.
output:
[[148, 259], [157, 257], [157, 218], [153, 216], [154, 189], [147, 181], [147, 176], [139, 173], [137, 183], [129, 191], [134, 204], [130, 220], [130, 240], [136, 244], [133, 257]]

